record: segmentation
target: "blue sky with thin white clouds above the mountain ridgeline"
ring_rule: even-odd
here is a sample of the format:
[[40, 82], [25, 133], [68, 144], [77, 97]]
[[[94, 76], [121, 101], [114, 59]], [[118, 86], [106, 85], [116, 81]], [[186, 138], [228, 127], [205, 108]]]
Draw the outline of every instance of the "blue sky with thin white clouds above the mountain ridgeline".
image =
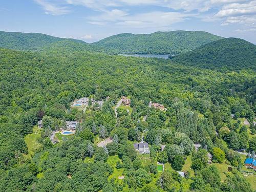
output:
[[256, 1], [1, 0], [0, 30], [86, 42], [119, 33], [206, 31], [256, 44]]

